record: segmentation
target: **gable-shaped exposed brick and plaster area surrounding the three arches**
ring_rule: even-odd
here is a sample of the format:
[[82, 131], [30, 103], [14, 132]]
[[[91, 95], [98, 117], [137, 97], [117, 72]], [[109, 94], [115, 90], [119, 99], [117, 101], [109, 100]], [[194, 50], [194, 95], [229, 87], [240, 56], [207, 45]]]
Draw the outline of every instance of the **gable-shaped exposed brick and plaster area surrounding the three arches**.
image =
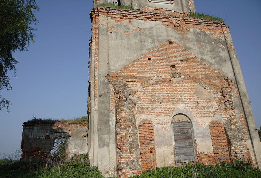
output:
[[[136, 155], [132, 157], [131, 154], [123, 154], [126, 149], [131, 152], [131, 146], [133, 146], [127, 142], [130, 137], [126, 138], [125, 127], [134, 127], [128, 132], [137, 134], [135, 128], [141, 120], [150, 119], [156, 133], [167, 131], [168, 136], [171, 135], [171, 119], [176, 114], [185, 114], [192, 121], [198, 161], [215, 164], [214, 156], [217, 152], [216, 149], [213, 151], [209, 127], [214, 119], [221, 119], [221, 122], [225, 124], [230, 140], [231, 158], [251, 159], [243, 133], [237, 129], [238, 122], [232, 101], [232, 93], [237, 93], [237, 90], [233, 83], [177, 43], [164, 42], [119, 71], [111, 72], [107, 79], [111, 80], [113, 86], [120, 88], [117, 92], [120, 93], [118, 95], [121, 107], [116, 113], [116, 119], [119, 122], [117, 129], [120, 133], [118, 134], [119, 162], [123, 160], [128, 164], [134, 160], [134, 157], [137, 159]], [[226, 95], [223, 91], [226, 91]], [[128, 116], [129, 111], [133, 110], [134, 116], [133, 114]], [[132, 123], [124, 122], [126, 115], [132, 119]], [[125, 140], [119, 144], [119, 139], [123, 139], [123, 134]], [[156, 157], [157, 153], [161, 152], [163, 156], [159, 159], [166, 161], [157, 159], [159, 161], [157, 165], [169, 165], [169, 159], [173, 157], [173, 151], [169, 152], [173, 149], [172, 139], [164, 142], [162, 137], [155, 134], [156, 146], [157, 142], [164, 147], [159, 149], [156, 147]], [[135, 143], [135, 146], [137, 147], [138, 143]], [[141, 148], [141, 145], [139, 147]], [[209, 162], [205, 157], [209, 157], [213, 162]], [[127, 172], [126, 168], [124, 172]], [[130, 169], [125, 175], [135, 174], [134, 170], [137, 171]]]

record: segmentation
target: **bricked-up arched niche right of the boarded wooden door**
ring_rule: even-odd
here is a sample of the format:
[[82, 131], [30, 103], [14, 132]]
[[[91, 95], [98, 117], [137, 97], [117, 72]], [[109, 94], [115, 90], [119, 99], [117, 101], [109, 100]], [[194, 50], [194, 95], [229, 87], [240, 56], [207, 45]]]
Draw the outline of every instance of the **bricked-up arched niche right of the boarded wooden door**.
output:
[[215, 162], [231, 161], [228, 150], [228, 141], [224, 126], [220, 121], [212, 121], [209, 124]]

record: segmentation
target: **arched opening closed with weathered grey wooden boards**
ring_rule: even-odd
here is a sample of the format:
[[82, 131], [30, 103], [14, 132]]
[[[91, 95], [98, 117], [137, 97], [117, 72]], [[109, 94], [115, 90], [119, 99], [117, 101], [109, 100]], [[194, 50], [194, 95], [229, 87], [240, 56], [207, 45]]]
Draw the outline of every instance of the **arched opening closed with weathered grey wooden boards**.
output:
[[177, 114], [172, 118], [171, 126], [175, 162], [196, 161], [195, 141], [190, 119], [185, 115]]

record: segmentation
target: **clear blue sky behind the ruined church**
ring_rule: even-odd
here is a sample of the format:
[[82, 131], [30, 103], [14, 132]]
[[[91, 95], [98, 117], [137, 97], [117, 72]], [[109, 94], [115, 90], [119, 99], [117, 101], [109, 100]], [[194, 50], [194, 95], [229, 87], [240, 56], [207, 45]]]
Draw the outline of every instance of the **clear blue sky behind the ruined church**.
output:
[[[88, 48], [92, 0], [36, 0], [35, 42], [15, 52], [17, 78], [1, 91], [12, 105], [0, 111], [0, 154], [21, 147], [23, 122], [33, 117], [72, 119], [87, 115]], [[194, 0], [198, 13], [223, 17], [243, 72], [257, 126], [261, 126], [260, 0]]]

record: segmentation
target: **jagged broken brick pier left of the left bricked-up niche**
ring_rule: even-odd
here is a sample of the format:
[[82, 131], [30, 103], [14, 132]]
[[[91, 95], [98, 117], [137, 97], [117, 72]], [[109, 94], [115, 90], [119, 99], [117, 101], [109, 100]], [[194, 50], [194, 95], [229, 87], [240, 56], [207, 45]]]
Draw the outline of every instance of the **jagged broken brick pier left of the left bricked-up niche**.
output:
[[113, 83], [118, 139], [118, 176], [128, 177], [141, 173], [138, 129], [134, 119], [136, 102], [126, 92], [122, 81]]

